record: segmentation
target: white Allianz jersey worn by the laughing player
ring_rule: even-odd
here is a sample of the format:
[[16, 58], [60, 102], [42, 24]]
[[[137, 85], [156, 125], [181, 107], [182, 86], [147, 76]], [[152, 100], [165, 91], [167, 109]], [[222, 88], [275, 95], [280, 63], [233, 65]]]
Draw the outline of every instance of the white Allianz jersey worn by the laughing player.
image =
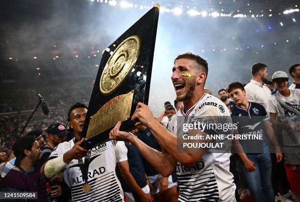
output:
[[[224, 122], [226, 118], [230, 118], [230, 112], [221, 100], [204, 93], [200, 100], [186, 113], [184, 113], [182, 107], [172, 116], [167, 129], [178, 135], [177, 119], [184, 117], [185, 123], [192, 123], [199, 116], [202, 118], [204, 116], [217, 116], [216, 123], [220, 123]], [[213, 153], [210, 149], [190, 168], [186, 168], [180, 162], [177, 162], [178, 201], [229, 202], [233, 200], [236, 187], [233, 183], [233, 175], [229, 172], [229, 157], [230, 151], [229, 153]]]

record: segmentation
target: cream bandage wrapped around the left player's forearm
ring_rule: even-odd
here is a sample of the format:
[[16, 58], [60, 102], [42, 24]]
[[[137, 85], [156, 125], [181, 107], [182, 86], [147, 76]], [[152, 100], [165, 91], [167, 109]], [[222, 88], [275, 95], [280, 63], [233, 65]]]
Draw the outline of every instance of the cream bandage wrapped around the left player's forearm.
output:
[[60, 157], [53, 158], [46, 162], [44, 168], [44, 174], [47, 178], [52, 178], [59, 172], [61, 172], [68, 163], [63, 160], [63, 155]]

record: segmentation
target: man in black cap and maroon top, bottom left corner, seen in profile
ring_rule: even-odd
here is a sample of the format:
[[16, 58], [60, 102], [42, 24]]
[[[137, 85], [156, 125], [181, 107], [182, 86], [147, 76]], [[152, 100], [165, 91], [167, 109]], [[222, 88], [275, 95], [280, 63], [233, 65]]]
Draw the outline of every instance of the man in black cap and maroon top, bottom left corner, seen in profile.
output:
[[37, 192], [36, 200], [27, 201], [47, 201], [46, 189], [40, 182], [40, 165], [35, 164], [41, 153], [38, 142], [32, 136], [23, 136], [13, 145], [13, 153], [16, 167], [3, 178], [0, 191]]

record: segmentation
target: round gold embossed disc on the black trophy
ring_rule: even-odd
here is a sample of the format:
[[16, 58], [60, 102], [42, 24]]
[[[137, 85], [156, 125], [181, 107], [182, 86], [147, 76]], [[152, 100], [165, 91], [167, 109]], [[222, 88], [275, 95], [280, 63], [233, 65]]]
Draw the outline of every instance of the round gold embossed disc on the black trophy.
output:
[[100, 92], [117, 90], [132, 71], [140, 53], [141, 40], [134, 35], [125, 39], [108, 59], [100, 79]]

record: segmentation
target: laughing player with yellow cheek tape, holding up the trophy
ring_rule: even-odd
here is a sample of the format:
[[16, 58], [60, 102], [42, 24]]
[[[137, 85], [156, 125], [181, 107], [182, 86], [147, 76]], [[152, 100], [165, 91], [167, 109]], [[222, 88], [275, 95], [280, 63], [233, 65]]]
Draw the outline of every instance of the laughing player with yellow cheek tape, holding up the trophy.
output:
[[[213, 153], [213, 150], [208, 148], [197, 150], [195, 153], [178, 151], [182, 146], [177, 140], [182, 138], [179, 137], [180, 131], [177, 131], [177, 119], [185, 119], [185, 123], [194, 123], [200, 120], [206, 122], [206, 117], [213, 116], [216, 117], [213, 119], [214, 123], [226, 123], [228, 120], [226, 116], [230, 116], [223, 102], [204, 93], [208, 73], [207, 62], [198, 55], [184, 53], [175, 59], [172, 71], [171, 79], [176, 100], [183, 101], [183, 106], [169, 120], [167, 129], [154, 119], [149, 107], [143, 103], [138, 104], [132, 116], [133, 120], [139, 119], [150, 129], [163, 147], [163, 152], [150, 148], [134, 135], [120, 131], [121, 122], [118, 122], [111, 131], [110, 137], [134, 144], [155, 170], [165, 177], [170, 176], [176, 169], [179, 202], [235, 202], [235, 185], [229, 172], [230, 154]], [[210, 132], [197, 131], [202, 135]], [[214, 131], [214, 133], [224, 132]]]

